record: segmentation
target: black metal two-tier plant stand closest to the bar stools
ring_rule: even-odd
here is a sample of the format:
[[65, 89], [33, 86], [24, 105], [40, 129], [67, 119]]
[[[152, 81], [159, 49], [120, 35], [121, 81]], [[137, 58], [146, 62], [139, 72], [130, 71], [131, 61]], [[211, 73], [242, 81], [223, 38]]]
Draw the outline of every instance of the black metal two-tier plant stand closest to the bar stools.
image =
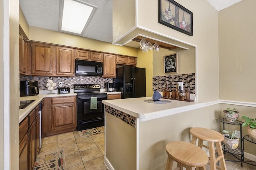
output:
[[224, 153], [228, 152], [228, 153], [232, 154], [232, 156], [234, 156], [236, 159], [238, 159], [237, 161], [236, 160], [226, 160], [226, 161], [241, 162], [241, 166], [243, 167], [244, 150], [243, 150], [243, 147], [242, 147], [243, 146], [242, 124], [244, 122], [238, 121], [238, 120], [236, 120], [234, 122], [229, 122], [224, 118], [220, 119], [220, 121], [223, 123], [223, 129], [225, 129], [225, 123], [230, 124], [230, 125], [239, 125], [240, 126], [240, 139], [241, 139], [240, 147], [237, 147], [236, 149], [230, 149], [230, 148], [226, 147], [224, 145], [224, 143], [222, 143], [222, 150], [223, 150]]

